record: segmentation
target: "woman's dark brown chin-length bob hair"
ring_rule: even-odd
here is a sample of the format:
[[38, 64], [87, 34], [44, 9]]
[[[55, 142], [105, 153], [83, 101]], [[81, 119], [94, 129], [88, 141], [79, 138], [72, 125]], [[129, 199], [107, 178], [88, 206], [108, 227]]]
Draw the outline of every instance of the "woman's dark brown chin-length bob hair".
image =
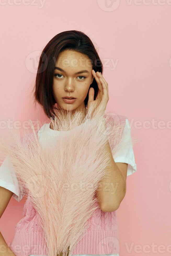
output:
[[[87, 55], [91, 60], [94, 71], [103, 73], [103, 66], [99, 55], [91, 39], [86, 34], [77, 30], [69, 30], [54, 36], [44, 47], [41, 53], [36, 74], [35, 87], [33, 89], [35, 106], [38, 102], [48, 117], [53, 118], [55, 114], [54, 104], [56, 101], [52, 90], [55, 62], [59, 53], [68, 49]], [[90, 87], [94, 88], [95, 100], [99, 91], [98, 84], [95, 79], [93, 79]], [[87, 106], [87, 102], [88, 94], [84, 100], [85, 106]]]

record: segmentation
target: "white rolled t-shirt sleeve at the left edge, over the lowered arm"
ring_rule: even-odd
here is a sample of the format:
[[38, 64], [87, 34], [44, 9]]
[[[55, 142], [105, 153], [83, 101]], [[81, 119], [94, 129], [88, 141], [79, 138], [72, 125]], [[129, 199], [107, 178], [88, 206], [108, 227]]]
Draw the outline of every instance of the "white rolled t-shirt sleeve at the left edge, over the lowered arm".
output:
[[24, 196], [24, 192], [19, 188], [18, 179], [15, 175], [14, 167], [9, 161], [8, 155], [0, 166], [0, 186], [12, 191], [12, 196], [18, 202], [20, 202], [20, 200]]

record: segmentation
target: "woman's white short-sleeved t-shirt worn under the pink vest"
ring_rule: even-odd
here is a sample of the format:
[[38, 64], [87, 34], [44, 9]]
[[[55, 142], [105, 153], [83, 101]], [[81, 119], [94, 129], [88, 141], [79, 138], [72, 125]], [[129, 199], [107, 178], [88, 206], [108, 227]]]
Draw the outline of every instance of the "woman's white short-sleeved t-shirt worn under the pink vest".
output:
[[[50, 123], [46, 123], [42, 125], [40, 130], [38, 131], [38, 139], [41, 144], [48, 143], [48, 139], [56, 136], [60, 131], [52, 130], [50, 128]], [[131, 131], [128, 119], [126, 119], [126, 125], [124, 127], [124, 131], [126, 132], [128, 139], [131, 138]], [[121, 155], [117, 158], [114, 158], [115, 162], [127, 163], [127, 176], [133, 174], [136, 171], [136, 164], [134, 158], [134, 151], [132, 143], [130, 147], [123, 151]], [[0, 166], [0, 186], [6, 188], [13, 192], [13, 197], [19, 202], [22, 197], [24, 196], [24, 192], [19, 189], [18, 181], [15, 175], [11, 175], [11, 172], [14, 172], [13, 166], [8, 161], [8, 156], [3, 161], [2, 165]], [[83, 254], [82, 254], [83, 255]], [[30, 255], [35, 256], [35, 255]], [[39, 256], [39, 255], [36, 255]], [[88, 254], [83, 255], [88, 256]], [[102, 256], [102, 255], [100, 255]], [[111, 254], [111, 256], [119, 256], [119, 254]]]

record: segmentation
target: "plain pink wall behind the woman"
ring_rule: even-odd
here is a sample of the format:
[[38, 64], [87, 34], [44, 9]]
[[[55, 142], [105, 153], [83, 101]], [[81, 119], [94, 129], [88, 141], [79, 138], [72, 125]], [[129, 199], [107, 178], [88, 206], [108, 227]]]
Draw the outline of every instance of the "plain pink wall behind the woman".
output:
[[[137, 172], [127, 177], [127, 193], [117, 210], [119, 256], [168, 255], [171, 1], [10, 3], [0, 4], [1, 117], [47, 120], [39, 107], [34, 111], [31, 95], [37, 53], [59, 32], [75, 29], [86, 33], [104, 62], [107, 109], [127, 116], [138, 137], [134, 146]], [[12, 197], [0, 220], [7, 244], [22, 218], [24, 202]]]

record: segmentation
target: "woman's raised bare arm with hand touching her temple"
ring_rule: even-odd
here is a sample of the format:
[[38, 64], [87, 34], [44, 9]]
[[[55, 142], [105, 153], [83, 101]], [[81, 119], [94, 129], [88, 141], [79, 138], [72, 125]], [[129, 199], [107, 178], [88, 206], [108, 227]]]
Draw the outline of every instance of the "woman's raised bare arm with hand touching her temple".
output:
[[[90, 106], [94, 108], [100, 108], [105, 111], [107, 102], [109, 100], [108, 83], [102, 76], [101, 72], [95, 72], [92, 69], [92, 75], [94, 76], [98, 84], [98, 95], [94, 100], [94, 89], [89, 89], [87, 109]], [[107, 177], [99, 182], [99, 189], [96, 191], [97, 199], [99, 199], [99, 206], [104, 212], [113, 212], [119, 208], [121, 201], [126, 193], [126, 176], [127, 167], [126, 163], [115, 163], [112, 152], [110, 149], [109, 141], [106, 143], [106, 151], [110, 155], [110, 166], [107, 167], [107, 171], [111, 171]], [[118, 167], [119, 166], [119, 167]]]

